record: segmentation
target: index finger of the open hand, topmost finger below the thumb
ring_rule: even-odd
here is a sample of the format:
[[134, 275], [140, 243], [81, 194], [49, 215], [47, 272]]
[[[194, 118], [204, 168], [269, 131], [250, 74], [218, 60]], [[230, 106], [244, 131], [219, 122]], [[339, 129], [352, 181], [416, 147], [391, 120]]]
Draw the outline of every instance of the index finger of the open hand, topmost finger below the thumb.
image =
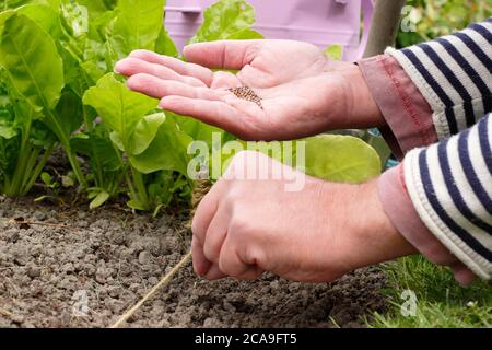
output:
[[130, 57], [167, 67], [178, 74], [196, 78], [207, 85], [210, 85], [213, 79], [213, 72], [210, 69], [199, 65], [187, 63], [174, 57], [163, 56], [148, 50], [132, 51]]

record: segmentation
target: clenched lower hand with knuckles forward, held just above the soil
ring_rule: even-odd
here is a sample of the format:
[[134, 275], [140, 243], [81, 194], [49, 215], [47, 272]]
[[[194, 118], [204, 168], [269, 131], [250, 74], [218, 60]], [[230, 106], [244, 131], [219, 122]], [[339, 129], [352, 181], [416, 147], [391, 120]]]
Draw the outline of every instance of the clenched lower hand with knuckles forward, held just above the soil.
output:
[[[247, 171], [246, 171], [247, 170]], [[245, 179], [245, 174], [282, 179]], [[286, 191], [304, 180], [300, 191]], [[384, 213], [377, 183], [341, 185], [242, 152], [198, 207], [192, 223], [199, 276], [256, 279], [265, 271], [332, 281], [356, 268], [417, 253]]]

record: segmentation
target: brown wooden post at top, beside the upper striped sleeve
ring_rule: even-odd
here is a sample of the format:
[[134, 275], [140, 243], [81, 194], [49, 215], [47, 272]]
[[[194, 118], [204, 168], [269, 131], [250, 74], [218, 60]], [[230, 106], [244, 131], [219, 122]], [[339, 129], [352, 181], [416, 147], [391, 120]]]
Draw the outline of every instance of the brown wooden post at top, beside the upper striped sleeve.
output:
[[376, 0], [373, 26], [364, 57], [383, 54], [386, 47], [395, 44], [406, 0]]

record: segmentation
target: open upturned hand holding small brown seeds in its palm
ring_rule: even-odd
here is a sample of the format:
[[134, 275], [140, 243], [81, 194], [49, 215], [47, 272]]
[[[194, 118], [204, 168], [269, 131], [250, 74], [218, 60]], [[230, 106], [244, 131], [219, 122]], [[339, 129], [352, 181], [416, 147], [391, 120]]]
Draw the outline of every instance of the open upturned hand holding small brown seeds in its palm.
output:
[[[131, 90], [161, 98], [162, 108], [244, 140], [290, 140], [384, 125], [359, 67], [331, 61], [311, 44], [214, 42], [190, 45], [184, 55], [189, 63], [137, 50], [115, 70], [129, 77]], [[261, 107], [229, 91], [244, 85], [262, 98]]]

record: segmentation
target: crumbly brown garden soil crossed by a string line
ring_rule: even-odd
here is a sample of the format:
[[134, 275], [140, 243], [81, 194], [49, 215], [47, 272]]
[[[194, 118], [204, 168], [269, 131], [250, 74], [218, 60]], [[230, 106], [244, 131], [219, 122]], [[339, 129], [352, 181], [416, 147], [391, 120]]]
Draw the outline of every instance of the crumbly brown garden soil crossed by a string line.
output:
[[[189, 249], [187, 219], [169, 214], [0, 197], [0, 327], [107, 327]], [[273, 276], [209, 282], [187, 266], [127, 325], [361, 327], [384, 308], [384, 287], [377, 268], [301, 284]]]

